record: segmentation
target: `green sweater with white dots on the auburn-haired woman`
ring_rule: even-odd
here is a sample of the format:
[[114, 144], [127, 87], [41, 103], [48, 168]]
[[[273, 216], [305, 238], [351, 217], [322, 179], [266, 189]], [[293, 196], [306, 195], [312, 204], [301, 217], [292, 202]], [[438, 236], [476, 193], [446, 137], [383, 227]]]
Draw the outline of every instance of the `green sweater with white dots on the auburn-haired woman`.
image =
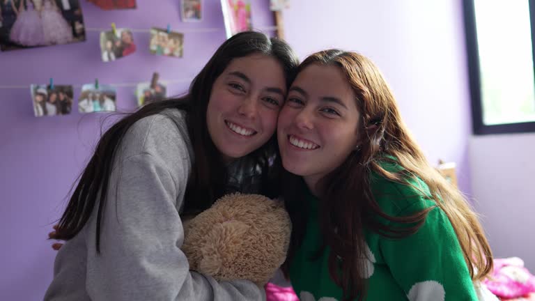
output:
[[[392, 167], [392, 166], [390, 166]], [[394, 167], [397, 169], [398, 167]], [[390, 168], [387, 168], [390, 170]], [[394, 183], [379, 176], [371, 180], [372, 192], [388, 215], [401, 217], [430, 208], [435, 203], [421, 180], [413, 185]], [[329, 247], [311, 261], [321, 245], [318, 199], [310, 192], [307, 232], [290, 263], [290, 281], [302, 301], [340, 301], [343, 292], [329, 276]], [[366, 300], [465, 301], [478, 300], [463, 252], [447, 215], [433, 208], [417, 233], [389, 239], [371, 231], [366, 236]], [[343, 264], [343, 263], [341, 263]]]

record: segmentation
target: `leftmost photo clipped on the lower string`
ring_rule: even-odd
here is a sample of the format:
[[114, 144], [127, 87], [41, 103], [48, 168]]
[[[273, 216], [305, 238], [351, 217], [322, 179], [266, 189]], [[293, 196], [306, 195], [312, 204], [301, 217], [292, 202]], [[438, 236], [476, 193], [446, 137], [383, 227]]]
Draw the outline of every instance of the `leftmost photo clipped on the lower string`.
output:
[[67, 115], [72, 111], [72, 86], [32, 85], [35, 116]]

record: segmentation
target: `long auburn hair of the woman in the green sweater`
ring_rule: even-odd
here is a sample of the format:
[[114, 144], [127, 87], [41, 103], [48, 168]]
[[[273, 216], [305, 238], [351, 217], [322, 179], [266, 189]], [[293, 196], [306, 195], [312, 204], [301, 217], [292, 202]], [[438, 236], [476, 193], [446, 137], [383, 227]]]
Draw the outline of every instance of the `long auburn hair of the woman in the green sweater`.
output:
[[[329, 274], [343, 288], [344, 298], [364, 300], [366, 296], [366, 279], [359, 276], [362, 275], [359, 271], [364, 269], [362, 256], [366, 256], [364, 229], [387, 238], [410, 236], [418, 231], [428, 212], [436, 206], [449, 218], [472, 278], [481, 279], [488, 275], [493, 268], [492, 252], [476, 213], [463, 194], [428, 163], [403, 123], [394, 95], [378, 68], [365, 56], [339, 49], [312, 54], [301, 63], [299, 71], [312, 64], [340, 68], [355, 93], [355, 102], [362, 116], [360, 137], [367, 137], [338, 169], [320, 181], [319, 186], [323, 248], [329, 246], [332, 250], [328, 258]], [[401, 171], [383, 169], [380, 162], [385, 160], [400, 165]], [[411, 179], [423, 180], [435, 200], [435, 207], [410, 216], [387, 215], [378, 206], [371, 191], [372, 173], [404, 185], [410, 185], [408, 181]], [[306, 231], [304, 215], [307, 210], [303, 208], [307, 208], [307, 203], [302, 191], [295, 189], [302, 185], [300, 177], [286, 172], [283, 183], [284, 199], [293, 223], [290, 249], [283, 265], [288, 277], [290, 263]], [[423, 187], [415, 188], [424, 194]], [[398, 226], [385, 226], [373, 217]], [[318, 255], [323, 248], [318, 250]], [[341, 273], [337, 256], [343, 259]]]

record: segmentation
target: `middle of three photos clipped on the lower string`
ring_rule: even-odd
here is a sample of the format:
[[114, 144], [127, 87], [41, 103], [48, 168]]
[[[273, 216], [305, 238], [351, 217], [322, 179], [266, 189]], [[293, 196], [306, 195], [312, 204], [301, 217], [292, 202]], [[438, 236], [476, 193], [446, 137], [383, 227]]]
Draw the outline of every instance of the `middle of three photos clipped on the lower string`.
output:
[[84, 84], [78, 99], [80, 113], [116, 111], [116, 90], [110, 85]]

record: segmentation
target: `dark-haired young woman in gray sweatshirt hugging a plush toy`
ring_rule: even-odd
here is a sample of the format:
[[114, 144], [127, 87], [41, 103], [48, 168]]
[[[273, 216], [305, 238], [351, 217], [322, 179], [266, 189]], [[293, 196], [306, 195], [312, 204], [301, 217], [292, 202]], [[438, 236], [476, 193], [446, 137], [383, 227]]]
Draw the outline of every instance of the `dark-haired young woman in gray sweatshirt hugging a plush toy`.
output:
[[262, 300], [251, 281], [189, 271], [182, 215], [228, 192], [277, 196], [279, 109], [297, 69], [286, 43], [238, 33], [182, 98], [111, 126], [82, 172], [54, 238], [45, 300]]

